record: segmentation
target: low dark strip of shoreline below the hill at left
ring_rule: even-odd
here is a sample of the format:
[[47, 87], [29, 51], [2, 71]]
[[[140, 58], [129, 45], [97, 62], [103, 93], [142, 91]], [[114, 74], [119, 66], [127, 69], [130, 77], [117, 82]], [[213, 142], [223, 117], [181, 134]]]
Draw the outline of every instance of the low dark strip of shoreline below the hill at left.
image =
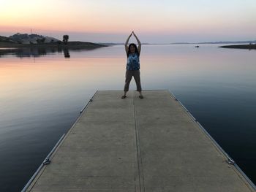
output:
[[12, 42], [0, 42], [0, 47], [13, 47], [13, 48], [50, 48], [50, 47], [60, 47], [67, 49], [90, 49], [97, 47], [108, 47], [108, 45], [101, 45], [92, 42], [67, 42], [67, 45], [64, 45], [64, 42], [48, 42], [42, 44], [20, 44], [20, 43], [12, 43]]

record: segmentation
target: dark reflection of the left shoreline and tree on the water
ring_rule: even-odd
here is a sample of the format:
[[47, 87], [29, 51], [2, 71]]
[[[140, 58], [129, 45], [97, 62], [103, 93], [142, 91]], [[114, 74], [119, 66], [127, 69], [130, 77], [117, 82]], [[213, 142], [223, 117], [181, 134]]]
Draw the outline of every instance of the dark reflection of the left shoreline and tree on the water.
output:
[[43, 55], [64, 53], [64, 58], [70, 58], [69, 50], [94, 50], [97, 47], [68, 48], [68, 47], [22, 47], [22, 48], [1, 48], [0, 57], [4, 55], [15, 55], [18, 58], [41, 57]]

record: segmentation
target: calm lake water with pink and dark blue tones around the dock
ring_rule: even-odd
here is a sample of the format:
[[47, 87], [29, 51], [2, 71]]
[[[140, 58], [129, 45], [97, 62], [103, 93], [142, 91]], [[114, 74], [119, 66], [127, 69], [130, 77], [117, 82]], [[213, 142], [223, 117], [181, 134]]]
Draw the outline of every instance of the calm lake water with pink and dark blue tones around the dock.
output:
[[[123, 46], [1, 51], [0, 191], [20, 191], [95, 91], [123, 89], [126, 58]], [[217, 45], [144, 45], [140, 56], [143, 88], [174, 93], [254, 183], [255, 61]]]

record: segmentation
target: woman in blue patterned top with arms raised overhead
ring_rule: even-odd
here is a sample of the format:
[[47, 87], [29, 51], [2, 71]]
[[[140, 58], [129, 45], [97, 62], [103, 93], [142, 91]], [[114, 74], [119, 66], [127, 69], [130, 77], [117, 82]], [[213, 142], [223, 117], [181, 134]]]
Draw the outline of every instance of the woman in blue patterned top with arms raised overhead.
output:
[[[132, 34], [135, 36], [138, 42], [138, 48], [134, 43], [131, 43], [128, 47], [129, 38], [132, 37]], [[127, 41], [125, 42], [125, 51], [127, 53], [127, 72], [125, 74], [125, 84], [124, 84], [124, 95], [121, 96], [121, 99], [127, 97], [127, 91], [129, 90], [129, 82], [132, 80], [132, 76], [135, 79], [137, 85], [137, 91], [140, 93], [140, 99], [143, 99], [143, 95], [141, 93], [141, 85], [140, 85], [140, 50], [141, 43], [135, 33], [132, 31], [132, 34], [129, 35]]]

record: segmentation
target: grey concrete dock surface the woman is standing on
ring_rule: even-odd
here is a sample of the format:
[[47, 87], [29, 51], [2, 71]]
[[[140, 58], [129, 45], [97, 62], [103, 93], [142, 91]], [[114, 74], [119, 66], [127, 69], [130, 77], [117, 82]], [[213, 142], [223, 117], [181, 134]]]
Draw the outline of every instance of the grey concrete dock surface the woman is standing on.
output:
[[27, 191], [255, 191], [169, 91], [97, 91]]

